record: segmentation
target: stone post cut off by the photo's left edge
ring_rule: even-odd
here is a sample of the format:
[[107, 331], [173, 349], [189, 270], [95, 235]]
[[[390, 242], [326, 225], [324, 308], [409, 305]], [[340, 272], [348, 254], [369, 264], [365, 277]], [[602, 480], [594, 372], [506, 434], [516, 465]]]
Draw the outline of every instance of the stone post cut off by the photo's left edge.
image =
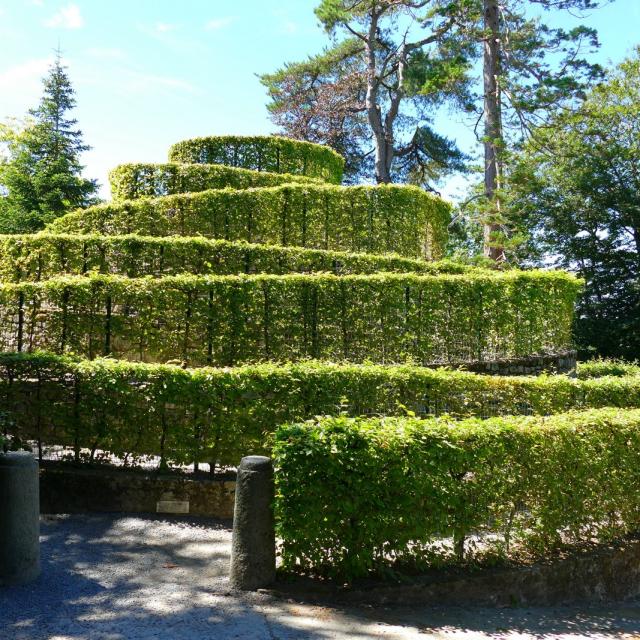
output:
[[0, 453], [0, 586], [40, 574], [38, 482], [38, 463], [30, 453]]

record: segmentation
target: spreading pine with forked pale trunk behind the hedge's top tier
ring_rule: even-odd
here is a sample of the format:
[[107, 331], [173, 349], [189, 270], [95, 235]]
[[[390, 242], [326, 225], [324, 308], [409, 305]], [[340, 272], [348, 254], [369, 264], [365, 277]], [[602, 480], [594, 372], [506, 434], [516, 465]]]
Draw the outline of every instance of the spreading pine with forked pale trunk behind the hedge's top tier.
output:
[[456, 37], [450, 6], [323, 0], [316, 15], [332, 44], [262, 76], [274, 122], [287, 135], [332, 145], [354, 180], [431, 186], [464, 170], [464, 154], [433, 128], [444, 101], [471, 108], [472, 47]]

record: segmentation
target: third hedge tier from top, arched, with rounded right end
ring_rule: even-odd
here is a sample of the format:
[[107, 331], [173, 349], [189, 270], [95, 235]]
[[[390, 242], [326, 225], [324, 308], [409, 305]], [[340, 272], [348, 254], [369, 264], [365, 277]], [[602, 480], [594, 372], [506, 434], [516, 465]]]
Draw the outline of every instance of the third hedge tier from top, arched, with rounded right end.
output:
[[104, 204], [58, 218], [48, 230], [206, 236], [437, 258], [449, 220], [450, 206], [417, 187], [286, 185]]

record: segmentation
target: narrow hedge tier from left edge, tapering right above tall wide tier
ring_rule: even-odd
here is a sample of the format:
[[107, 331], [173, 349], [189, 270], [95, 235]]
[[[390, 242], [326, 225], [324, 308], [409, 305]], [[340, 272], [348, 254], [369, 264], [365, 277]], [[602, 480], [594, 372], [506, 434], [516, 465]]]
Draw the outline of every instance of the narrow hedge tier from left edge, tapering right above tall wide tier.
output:
[[240, 273], [465, 273], [454, 262], [394, 255], [278, 247], [179, 236], [25, 234], [0, 236], [0, 280], [46, 280], [62, 274], [128, 277]]

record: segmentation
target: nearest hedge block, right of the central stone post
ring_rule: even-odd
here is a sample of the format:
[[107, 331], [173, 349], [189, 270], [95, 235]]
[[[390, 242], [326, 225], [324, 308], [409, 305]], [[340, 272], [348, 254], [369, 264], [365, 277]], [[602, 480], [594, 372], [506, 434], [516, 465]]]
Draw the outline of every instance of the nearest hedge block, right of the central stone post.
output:
[[640, 525], [640, 410], [285, 426], [283, 566], [343, 580], [400, 563], [541, 555]]

